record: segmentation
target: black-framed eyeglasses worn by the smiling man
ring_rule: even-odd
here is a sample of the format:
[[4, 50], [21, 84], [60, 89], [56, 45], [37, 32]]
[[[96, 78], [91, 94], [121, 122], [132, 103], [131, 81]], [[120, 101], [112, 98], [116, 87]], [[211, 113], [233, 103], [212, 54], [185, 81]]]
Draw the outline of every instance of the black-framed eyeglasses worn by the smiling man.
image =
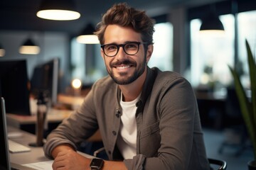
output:
[[127, 42], [124, 44], [106, 44], [101, 45], [102, 50], [107, 57], [114, 57], [117, 55], [119, 48], [122, 47], [127, 55], [136, 55], [139, 51], [139, 45], [148, 44], [147, 42]]

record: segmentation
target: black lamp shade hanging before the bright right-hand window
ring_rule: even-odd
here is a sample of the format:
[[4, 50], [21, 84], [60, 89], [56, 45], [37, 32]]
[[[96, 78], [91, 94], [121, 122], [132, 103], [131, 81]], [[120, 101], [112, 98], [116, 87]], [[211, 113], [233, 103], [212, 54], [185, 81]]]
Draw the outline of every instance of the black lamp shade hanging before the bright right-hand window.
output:
[[203, 18], [202, 25], [200, 31], [207, 31], [207, 30], [218, 30], [224, 31], [223, 23], [221, 23], [218, 16], [214, 13], [210, 13], [206, 18]]

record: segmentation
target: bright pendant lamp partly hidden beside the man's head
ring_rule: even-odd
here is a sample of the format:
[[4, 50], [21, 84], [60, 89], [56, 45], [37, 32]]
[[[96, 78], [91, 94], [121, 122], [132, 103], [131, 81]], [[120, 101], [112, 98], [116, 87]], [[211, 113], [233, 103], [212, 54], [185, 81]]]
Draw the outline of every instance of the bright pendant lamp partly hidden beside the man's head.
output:
[[97, 35], [94, 35], [95, 28], [89, 23], [78, 35], [77, 41], [82, 44], [99, 44], [100, 41], [97, 38]]

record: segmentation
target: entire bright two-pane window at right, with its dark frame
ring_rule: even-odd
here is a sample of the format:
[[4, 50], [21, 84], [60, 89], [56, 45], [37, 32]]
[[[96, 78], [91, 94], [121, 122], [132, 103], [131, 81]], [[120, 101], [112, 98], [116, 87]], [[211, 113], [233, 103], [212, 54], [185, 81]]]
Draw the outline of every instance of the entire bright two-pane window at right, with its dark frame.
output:
[[[225, 37], [200, 37], [198, 30], [203, 16], [212, 6], [220, 15], [225, 28]], [[255, 1], [220, 1], [214, 4], [188, 9], [188, 20], [191, 26], [191, 84], [233, 84], [228, 65], [240, 70], [242, 85], [250, 86], [247, 50], [245, 39], [249, 42], [252, 54], [256, 55], [256, 2]], [[235, 13], [235, 15], [233, 14]], [[236, 17], [236, 18], [235, 18]], [[237, 30], [235, 30], [237, 28]]]

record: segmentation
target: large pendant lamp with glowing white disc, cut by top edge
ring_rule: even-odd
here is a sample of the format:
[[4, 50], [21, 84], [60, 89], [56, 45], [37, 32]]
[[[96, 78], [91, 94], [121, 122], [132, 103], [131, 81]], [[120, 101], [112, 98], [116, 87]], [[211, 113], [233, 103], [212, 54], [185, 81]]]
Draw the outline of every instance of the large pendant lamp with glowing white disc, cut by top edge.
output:
[[80, 18], [73, 0], [43, 0], [36, 16], [55, 21], [70, 21]]

